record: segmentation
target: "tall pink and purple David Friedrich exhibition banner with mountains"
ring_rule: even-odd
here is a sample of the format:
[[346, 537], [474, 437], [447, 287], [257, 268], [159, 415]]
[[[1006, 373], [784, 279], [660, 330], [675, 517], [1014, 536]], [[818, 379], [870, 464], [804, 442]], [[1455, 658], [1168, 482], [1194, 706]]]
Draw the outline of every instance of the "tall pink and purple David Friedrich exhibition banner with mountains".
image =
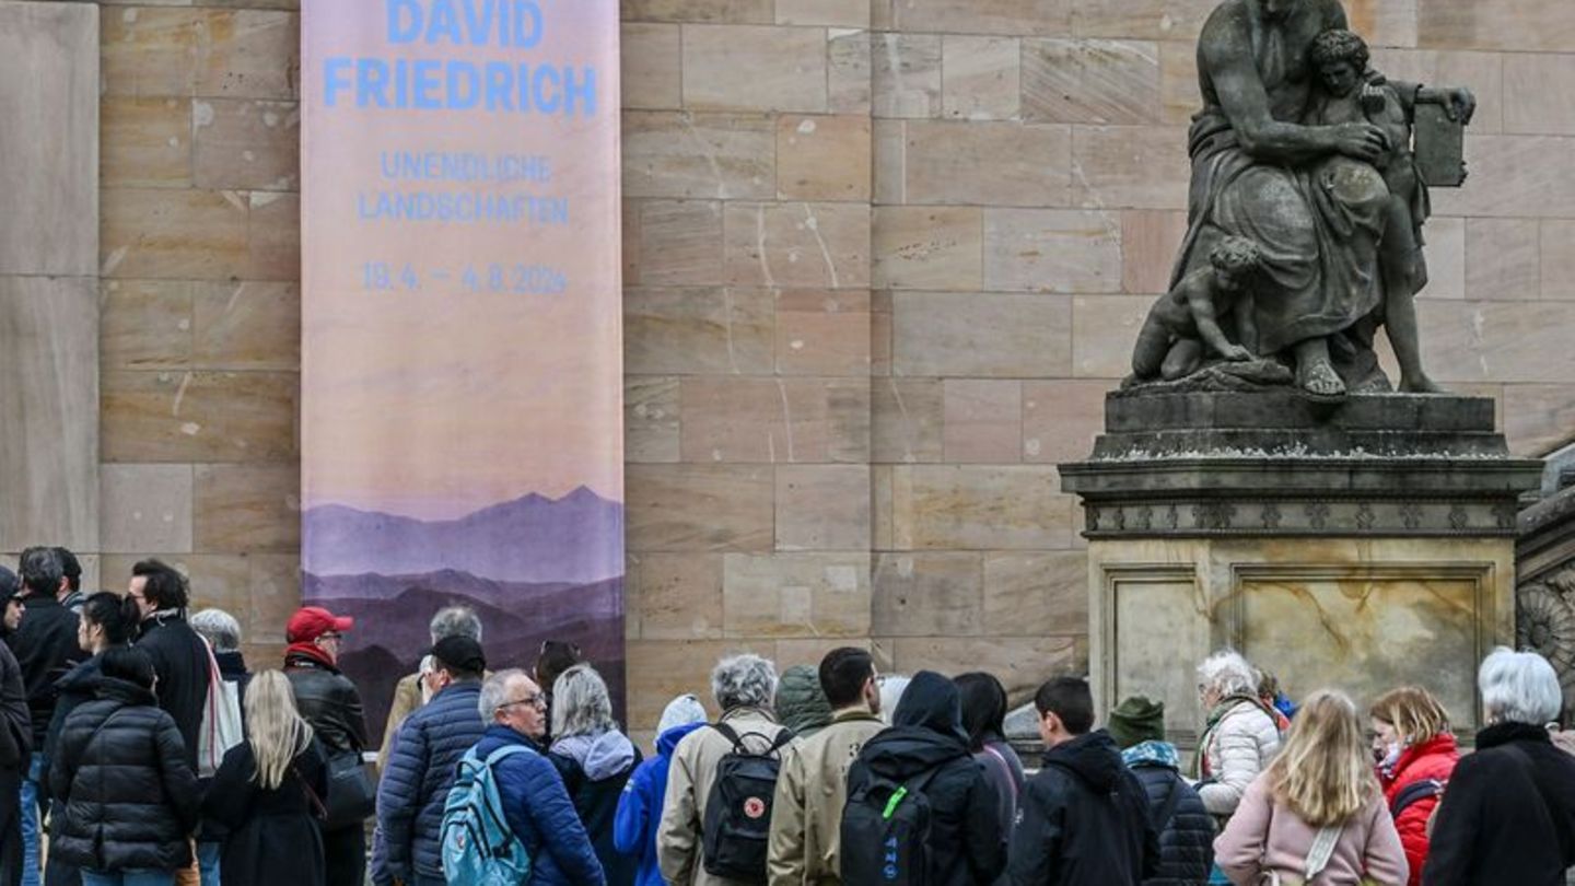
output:
[[[309, 604], [381, 728], [463, 602], [624, 687], [617, 0], [306, 0]], [[376, 735], [376, 733], [375, 733]]]

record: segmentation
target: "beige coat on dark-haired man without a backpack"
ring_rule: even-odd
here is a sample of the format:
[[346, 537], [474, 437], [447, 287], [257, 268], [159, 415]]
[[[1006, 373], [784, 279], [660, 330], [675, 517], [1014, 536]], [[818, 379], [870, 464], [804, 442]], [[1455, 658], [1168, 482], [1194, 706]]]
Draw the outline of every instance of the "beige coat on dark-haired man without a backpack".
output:
[[772, 801], [770, 886], [839, 884], [847, 769], [885, 724], [866, 711], [836, 714], [832, 725], [783, 755]]

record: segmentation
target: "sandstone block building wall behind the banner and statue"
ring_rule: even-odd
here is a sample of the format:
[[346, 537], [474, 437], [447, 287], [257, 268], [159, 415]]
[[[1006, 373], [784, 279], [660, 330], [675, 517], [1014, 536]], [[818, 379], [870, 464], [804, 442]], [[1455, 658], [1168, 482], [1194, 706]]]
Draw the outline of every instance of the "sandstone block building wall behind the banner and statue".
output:
[[[1545, 452], [1575, 427], [1575, 6], [1347, 5], [1383, 71], [1480, 99], [1471, 180], [1435, 195], [1422, 336], [1436, 378]], [[74, 440], [98, 459], [60, 468], [90, 500], [69, 539], [109, 586], [181, 563], [274, 661], [299, 594], [299, 3], [0, 16], [82, 6], [98, 90], [69, 95], [98, 139], [57, 150], [96, 162], [72, 184], [96, 262], [0, 262], [13, 301], [36, 274], [98, 290], [68, 317], [96, 337], [63, 352], [98, 364], [71, 394], [96, 397]], [[1087, 668], [1055, 463], [1087, 452], [1166, 285], [1213, 6], [624, 0], [635, 727], [728, 650], [868, 643], [1019, 695]], [[0, 547], [57, 525], [30, 508]]]

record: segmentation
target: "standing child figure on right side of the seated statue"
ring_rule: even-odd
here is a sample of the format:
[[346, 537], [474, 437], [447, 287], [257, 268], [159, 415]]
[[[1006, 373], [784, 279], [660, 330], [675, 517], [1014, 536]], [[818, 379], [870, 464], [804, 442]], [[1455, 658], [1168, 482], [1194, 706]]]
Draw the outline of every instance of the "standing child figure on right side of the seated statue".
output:
[[1312, 65], [1323, 90], [1314, 96], [1304, 123], [1336, 126], [1372, 123], [1389, 148], [1373, 161], [1389, 186], [1378, 263], [1384, 284], [1384, 328], [1400, 363], [1400, 389], [1443, 393], [1422, 370], [1416, 329], [1416, 293], [1427, 285], [1422, 222], [1427, 221], [1427, 184], [1416, 170], [1411, 128], [1418, 104], [1443, 104], [1449, 95], [1411, 84], [1388, 82], [1369, 66], [1367, 43], [1348, 30], [1329, 30], [1312, 43]]

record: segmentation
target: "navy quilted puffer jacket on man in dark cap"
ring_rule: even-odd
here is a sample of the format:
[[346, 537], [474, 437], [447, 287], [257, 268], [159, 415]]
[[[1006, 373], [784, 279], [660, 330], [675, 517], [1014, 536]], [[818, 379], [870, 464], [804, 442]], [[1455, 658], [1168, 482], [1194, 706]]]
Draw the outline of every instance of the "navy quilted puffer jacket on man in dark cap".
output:
[[378, 826], [387, 843], [387, 870], [443, 878], [443, 804], [460, 757], [482, 738], [477, 702], [482, 684], [454, 683], [411, 714], [394, 739], [378, 784]]

